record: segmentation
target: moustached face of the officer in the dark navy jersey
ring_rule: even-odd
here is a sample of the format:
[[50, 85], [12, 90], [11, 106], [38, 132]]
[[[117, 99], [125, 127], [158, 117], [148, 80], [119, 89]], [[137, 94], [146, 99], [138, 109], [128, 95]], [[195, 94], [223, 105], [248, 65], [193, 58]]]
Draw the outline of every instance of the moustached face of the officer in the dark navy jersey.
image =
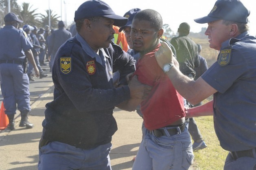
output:
[[107, 48], [114, 39], [113, 19], [100, 17], [98, 21], [91, 21], [91, 38], [89, 45], [92, 49]]

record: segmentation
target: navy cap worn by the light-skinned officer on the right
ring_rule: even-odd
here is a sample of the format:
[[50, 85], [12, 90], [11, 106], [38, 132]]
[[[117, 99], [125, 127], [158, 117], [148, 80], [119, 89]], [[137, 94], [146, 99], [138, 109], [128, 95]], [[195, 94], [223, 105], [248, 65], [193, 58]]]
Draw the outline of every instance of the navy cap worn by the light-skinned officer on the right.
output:
[[238, 23], [247, 23], [250, 11], [245, 8], [240, 0], [217, 0], [212, 11], [206, 16], [194, 19], [195, 22], [204, 24], [219, 19]]

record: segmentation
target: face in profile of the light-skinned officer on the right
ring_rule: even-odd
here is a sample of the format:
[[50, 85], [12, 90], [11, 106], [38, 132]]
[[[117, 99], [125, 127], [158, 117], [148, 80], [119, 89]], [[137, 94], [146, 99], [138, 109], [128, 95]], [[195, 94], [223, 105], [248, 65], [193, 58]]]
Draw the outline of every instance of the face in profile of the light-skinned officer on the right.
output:
[[222, 22], [223, 20], [217, 20], [217, 21], [208, 23], [208, 28], [206, 29], [205, 34], [208, 35], [210, 48], [220, 50], [221, 43], [231, 38], [230, 25], [226, 26]]

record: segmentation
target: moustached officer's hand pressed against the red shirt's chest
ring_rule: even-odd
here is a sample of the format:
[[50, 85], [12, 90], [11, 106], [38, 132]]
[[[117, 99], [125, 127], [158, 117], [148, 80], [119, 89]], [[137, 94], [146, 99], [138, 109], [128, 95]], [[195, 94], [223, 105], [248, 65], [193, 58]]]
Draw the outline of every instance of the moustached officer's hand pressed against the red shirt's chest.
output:
[[152, 87], [146, 84], [142, 84], [138, 81], [138, 77], [135, 75], [132, 77], [128, 84], [130, 88], [130, 98], [131, 99], [146, 99], [149, 95]]

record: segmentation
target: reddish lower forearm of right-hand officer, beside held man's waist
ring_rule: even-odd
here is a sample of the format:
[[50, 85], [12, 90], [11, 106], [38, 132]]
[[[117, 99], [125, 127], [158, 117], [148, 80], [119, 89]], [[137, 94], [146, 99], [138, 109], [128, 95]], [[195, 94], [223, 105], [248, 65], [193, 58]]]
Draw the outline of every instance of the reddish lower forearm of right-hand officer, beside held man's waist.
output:
[[195, 108], [189, 108], [186, 111], [186, 118], [211, 115], [213, 115], [213, 101], [209, 101], [208, 103]]

